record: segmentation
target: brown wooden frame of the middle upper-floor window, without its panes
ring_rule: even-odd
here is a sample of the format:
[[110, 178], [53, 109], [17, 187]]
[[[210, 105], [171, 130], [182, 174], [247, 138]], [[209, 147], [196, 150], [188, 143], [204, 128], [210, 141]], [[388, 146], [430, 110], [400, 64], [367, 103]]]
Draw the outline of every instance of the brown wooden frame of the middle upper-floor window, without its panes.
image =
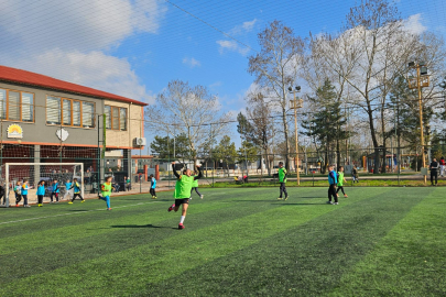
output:
[[[61, 118], [61, 123], [58, 124], [52, 124], [48, 123], [48, 97], [53, 98], [58, 98], [59, 99], [59, 110], [58, 110], [58, 116]], [[69, 122], [70, 124], [65, 124], [64, 123], [64, 101], [69, 101]], [[74, 102], [79, 102], [79, 119], [80, 119], [80, 125], [76, 125], [74, 123]], [[69, 127], [69, 128], [79, 128], [79, 129], [95, 129], [96, 123], [95, 120], [91, 121], [93, 125], [85, 127], [84, 125], [84, 102], [91, 103], [93, 105], [93, 114], [96, 112], [96, 102], [94, 101], [87, 101], [87, 100], [79, 100], [79, 99], [72, 99], [72, 98], [66, 98], [62, 96], [55, 96], [55, 95], [46, 95], [46, 100], [45, 100], [45, 123], [46, 125], [62, 125], [62, 127]]]

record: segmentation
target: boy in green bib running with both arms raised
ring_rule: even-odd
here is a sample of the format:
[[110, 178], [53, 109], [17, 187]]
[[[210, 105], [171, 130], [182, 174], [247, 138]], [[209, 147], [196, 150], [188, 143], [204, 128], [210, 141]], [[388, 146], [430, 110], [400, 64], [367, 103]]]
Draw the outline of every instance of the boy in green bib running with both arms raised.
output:
[[187, 207], [189, 206], [189, 197], [191, 197], [192, 188], [194, 186], [194, 182], [202, 178], [202, 170], [199, 169], [199, 167], [200, 166], [197, 165], [198, 176], [192, 176], [191, 169], [186, 169], [183, 172], [182, 175], [180, 175], [175, 170], [175, 162], [172, 162], [172, 170], [177, 179], [176, 179], [175, 191], [174, 191], [175, 204], [173, 204], [167, 209], [167, 211], [174, 210], [176, 212], [176, 211], [178, 211], [180, 206], [183, 206], [178, 229], [184, 229], [183, 222], [184, 222], [184, 219], [186, 218]]

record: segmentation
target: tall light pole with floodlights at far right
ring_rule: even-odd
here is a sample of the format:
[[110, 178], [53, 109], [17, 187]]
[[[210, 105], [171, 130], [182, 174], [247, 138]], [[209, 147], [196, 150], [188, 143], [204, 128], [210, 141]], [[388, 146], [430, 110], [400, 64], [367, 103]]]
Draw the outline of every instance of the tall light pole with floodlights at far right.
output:
[[422, 147], [422, 164], [423, 164], [423, 175], [424, 185], [427, 182], [427, 169], [426, 169], [426, 156], [424, 154], [424, 131], [423, 131], [423, 102], [422, 102], [422, 88], [429, 86], [429, 77], [427, 75], [427, 67], [424, 62], [409, 63], [409, 68], [416, 69], [416, 77], [409, 77], [409, 88], [418, 90], [418, 106], [420, 106], [420, 136], [421, 136], [421, 147]]

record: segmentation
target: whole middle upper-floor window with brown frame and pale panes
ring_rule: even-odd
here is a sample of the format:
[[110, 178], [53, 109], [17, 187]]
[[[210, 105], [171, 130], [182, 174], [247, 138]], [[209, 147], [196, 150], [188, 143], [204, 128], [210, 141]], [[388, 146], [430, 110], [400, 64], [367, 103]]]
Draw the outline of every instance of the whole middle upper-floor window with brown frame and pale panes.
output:
[[46, 123], [68, 127], [95, 127], [95, 103], [46, 96]]

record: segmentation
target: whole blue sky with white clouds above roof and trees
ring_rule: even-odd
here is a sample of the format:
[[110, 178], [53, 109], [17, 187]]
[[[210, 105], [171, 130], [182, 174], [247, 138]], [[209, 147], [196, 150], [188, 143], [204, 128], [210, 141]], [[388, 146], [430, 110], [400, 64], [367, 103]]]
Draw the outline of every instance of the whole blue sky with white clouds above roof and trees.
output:
[[[222, 111], [237, 114], [244, 109], [243, 98], [254, 79], [247, 72], [248, 57], [259, 50], [257, 34], [269, 22], [283, 21], [303, 38], [309, 32], [336, 33], [355, 3], [0, 0], [0, 65], [150, 105], [168, 81], [181, 79], [208, 87], [219, 97]], [[414, 30], [446, 36], [445, 1], [422, 3], [395, 1]], [[145, 136], [151, 142], [153, 133]]]

